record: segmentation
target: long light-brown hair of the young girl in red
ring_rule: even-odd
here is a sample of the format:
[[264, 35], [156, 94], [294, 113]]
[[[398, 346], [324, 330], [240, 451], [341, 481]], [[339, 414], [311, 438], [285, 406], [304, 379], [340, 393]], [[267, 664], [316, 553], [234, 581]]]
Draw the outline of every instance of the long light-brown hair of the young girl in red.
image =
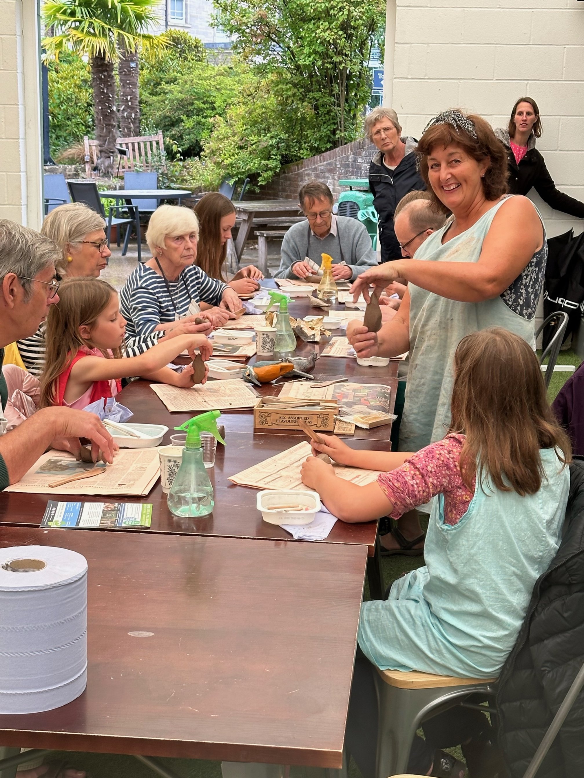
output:
[[[40, 377], [41, 407], [55, 403], [58, 377], [69, 367], [79, 349], [83, 346], [93, 348], [90, 341], [79, 335], [79, 328], [84, 324], [93, 327], [109, 305], [112, 294], [116, 294], [113, 286], [89, 276], [68, 278], [59, 286], [59, 301], [49, 308], [44, 335], [46, 354]], [[118, 359], [122, 356], [121, 349], [114, 349], [113, 354]]]

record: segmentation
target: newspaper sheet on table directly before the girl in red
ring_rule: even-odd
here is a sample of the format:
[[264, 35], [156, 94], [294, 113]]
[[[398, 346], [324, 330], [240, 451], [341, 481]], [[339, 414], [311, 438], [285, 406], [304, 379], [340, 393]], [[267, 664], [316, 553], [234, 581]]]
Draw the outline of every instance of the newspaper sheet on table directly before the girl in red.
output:
[[230, 408], [253, 408], [258, 395], [241, 378], [208, 380], [190, 389], [167, 384], [150, 384], [159, 398], [174, 411], [227, 411]]

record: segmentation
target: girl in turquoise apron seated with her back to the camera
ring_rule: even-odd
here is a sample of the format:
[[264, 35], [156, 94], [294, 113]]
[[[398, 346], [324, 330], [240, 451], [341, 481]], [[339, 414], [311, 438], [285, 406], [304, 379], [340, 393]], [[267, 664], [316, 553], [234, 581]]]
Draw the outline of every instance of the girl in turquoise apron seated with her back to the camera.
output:
[[[364, 778], [375, 776], [375, 666], [496, 677], [533, 585], [560, 545], [571, 448], [529, 344], [502, 328], [466, 335], [456, 349], [451, 410], [445, 438], [416, 454], [357, 451], [336, 436], [312, 444], [338, 464], [382, 471], [368, 485], [344, 481], [315, 457], [302, 466], [304, 484], [343, 521], [399, 519], [436, 498], [426, 565], [396, 580], [387, 600], [361, 608], [347, 745]], [[434, 748], [484, 731], [484, 715], [473, 724], [471, 714], [464, 712], [462, 724], [442, 720], [442, 727], [434, 717], [440, 734], [414, 741], [408, 772], [442, 774], [433, 772], [434, 759], [442, 759]]]

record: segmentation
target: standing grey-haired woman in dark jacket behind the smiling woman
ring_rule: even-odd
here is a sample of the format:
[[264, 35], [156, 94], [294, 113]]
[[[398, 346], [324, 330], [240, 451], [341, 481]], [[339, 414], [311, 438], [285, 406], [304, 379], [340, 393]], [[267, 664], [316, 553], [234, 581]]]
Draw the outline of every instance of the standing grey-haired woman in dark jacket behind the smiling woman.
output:
[[396, 111], [392, 108], [379, 106], [365, 117], [365, 135], [378, 148], [369, 166], [369, 188], [379, 216], [382, 262], [402, 257], [393, 229], [396, 205], [408, 192], [426, 188], [416, 170], [413, 152], [417, 141], [415, 138], [401, 138], [401, 131]]

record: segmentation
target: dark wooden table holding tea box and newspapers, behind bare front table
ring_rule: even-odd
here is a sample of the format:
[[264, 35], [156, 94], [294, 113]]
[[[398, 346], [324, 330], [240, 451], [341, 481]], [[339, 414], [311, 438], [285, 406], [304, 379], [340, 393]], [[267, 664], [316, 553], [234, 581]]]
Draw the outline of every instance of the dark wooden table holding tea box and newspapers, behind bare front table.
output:
[[[297, 316], [303, 315], [309, 308], [306, 301], [290, 304], [290, 310]], [[311, 309], [315, 310], [315, 309]], [[308, 353], [311, 349], [322, 349], [324, 345], [313, 343], [301, 343], [297, 353]], [[315, 367], [315, 376], [334, 377], [335, 373], [321, 373], [321, 366], [329, 368], [329, 363], [335, 365], [339, 376], [354, 375], [358, 380], [366, 383], [383, 383], [392, 387], [392, 398], [395, 400], [397, 380], [395, 378], [397, 363], [389, 363], [385, 368], [361, 367], [355, 359], [336, 359], [323, 357], [318, 359]], [[352, 372], [351, 372], [352, 371]], [[375, 375], [382, 373], [382, 376]], [[388, 376], [392, 376], [388, 378]], [[260, 389], [260, 393], [270, 393], [275, 387], [266, 385]], [[134, 381], [122, 391], [120, 401], [135, 412], [135, 420], [142, 423], [164, 424], [169, 432], [164, 437], [163, 443], [170, 443], [170, 436], [174, 433], [174, 427], [180, 426], [192, 413], [170, 413], [166, 406], [150, 389], [150, 382]], [[146, 533], [150, 534], [199, 534], [206, 536], [225, 538], [258, 538], [280, 541], [294, 541], [294, 538], [282, 527], [268, 524], [262, 520], [261, 514], [255, 507], [257, 489], [238, 486], [228, 480], [230, 475], [251, 467], [259, 461], [273, 457], [281, 451], [296, 445], [306, 436], [300, 429], [279, 430], [276, 434], [255, 432], [253, 429], [253, 417], [250, 411], [223, 412], [220, 422], [226, 429], [227, 447], [217, 446], [216, 464], [209, 470], [209, 477], [215, 489], [215, 506], [213, 513], [203, 518], [179, 518], [174, 516], [167, 507], [167, 496], [162, 491], [160, 481], [146, 497], [120, 497], [124, 502], [153, 503], [152, 525]], [[389, 425], [376, 427], [371, 430], [358, 429], [350, 445], [355, 448], [390, 450]], [[21, 494], [5, 492], [0, 497], [0, 526], [24, 526], [38, 527], [44, 515], [49, 497], [46, 494]], [[62, 498], [67, 499], [67, 498]], [[93, 496], [76, 497], [81, 502], [92, 502]], [[379, 568], [378, 557], [375, 556], [377, 521], [369, 521], [364, 524], [345, 524], [337, 521], [326, 544], [357, 544], [365, 545], [368, 549], [369, 568], [368, 578], [372, 596], [382, 597], [383, 584]], [[77, 532], [79, 530], [75, 530]], [[96, 531], [98, 533], [100, 531]], [[125, 530], [116, 530], [125, 533]], [[128, 530], [136, 533], [135, 530]]]

